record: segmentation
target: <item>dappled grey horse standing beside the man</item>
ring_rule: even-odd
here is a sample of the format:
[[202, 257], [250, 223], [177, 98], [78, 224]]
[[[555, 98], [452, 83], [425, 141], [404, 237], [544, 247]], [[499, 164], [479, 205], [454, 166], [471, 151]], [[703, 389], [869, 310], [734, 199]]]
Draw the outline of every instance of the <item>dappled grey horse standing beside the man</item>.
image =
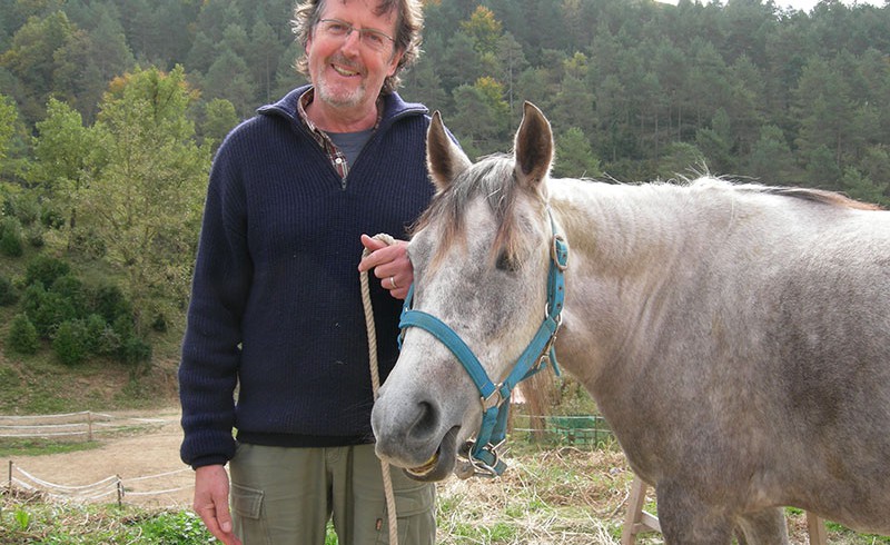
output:
[[[713, 178], [552, 179], [552, 160], [531, 105], [515, 153], [476, 165], [434, 116], [414, 308], [503, 379], [541, 324], [555, 226], [571, 246], [558, 360], [655, 487], [666, 543], [736, 527], [788, 543], [785, 505], [890, 534], [890, 212]], [[454, 354], [406, 329], [372, 416], [378, 455], [443, 478], [482, 413]]]

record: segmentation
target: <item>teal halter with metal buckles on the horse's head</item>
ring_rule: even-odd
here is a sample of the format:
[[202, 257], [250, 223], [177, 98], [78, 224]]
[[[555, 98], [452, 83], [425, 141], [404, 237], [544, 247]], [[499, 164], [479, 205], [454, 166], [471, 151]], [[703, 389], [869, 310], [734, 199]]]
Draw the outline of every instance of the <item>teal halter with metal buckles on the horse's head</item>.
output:
[[[476, 475], [495, 477], [506, 468], [506, 464], [498, 458], [497, 448], [506, 440], [507, 415], [510, 413], [510, 395], [513, 388], [526, 378], [535, 375], [550, 363], [556, 375], [560, 366], [556, 363], [554, 343], [556, 331], [560, 329], [565, 299], [565, 279], [563, 272], [568, 265], [568, 246], [562, 235], [556, 234], [556, 226], [551, 216], [553, 241], [551, 247], [550, 272], [547, 274], [547, 309], [544, 321], [538, 327], [532, 341], [522, 353], [507, 378], [495, 385], [473, 350], [466, 343], [445, 323], [433, 315], [422, 310], [412, 309], [414, 285], [408, 289], [405, 306], [402, 309], [399, 328], [404, 336], [406, 328], [419, 327], [427, 330], [444, 344], [458, 361], [464, 366], [469, 378], [476, 384], [482, 395], [482, 426], [475, 440], [467, 442], [466, 457]], [[399, 337], [399, 347], [402, 339]]]

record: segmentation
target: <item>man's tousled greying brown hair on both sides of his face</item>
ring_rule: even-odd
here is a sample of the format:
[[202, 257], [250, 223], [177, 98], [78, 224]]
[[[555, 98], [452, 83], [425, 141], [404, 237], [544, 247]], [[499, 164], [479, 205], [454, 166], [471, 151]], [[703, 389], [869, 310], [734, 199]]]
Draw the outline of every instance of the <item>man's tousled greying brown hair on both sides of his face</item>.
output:
[[[313, 29], [320, 19], [325, 3], [329, 0], [305, 0], [294, 9], [294, 19], [290, 21], [297, 41], [306, 48]], [[346, 0], [339, 0], [345, 2]], [[421, 30], [424, 26], [424, 16], [418, 0], [379, 0], [375, 13], [380, 16], [396, 10], [395, 49], [402, 51], [395, 73], [388, 76], [383, 83], [380, 95], [389, 95], [398, 89], [402, 79], [399, 72], [413, 65], [421, 56]], [[309, 63], [306, 53], [296, 62], [296, 69], [304, 76], [309, 76]]]

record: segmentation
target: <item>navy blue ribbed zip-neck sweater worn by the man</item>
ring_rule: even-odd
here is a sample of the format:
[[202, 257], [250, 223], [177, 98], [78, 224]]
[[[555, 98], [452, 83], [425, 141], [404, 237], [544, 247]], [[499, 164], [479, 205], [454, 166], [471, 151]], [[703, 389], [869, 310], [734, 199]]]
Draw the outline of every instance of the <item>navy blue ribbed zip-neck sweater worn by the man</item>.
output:
[[[359, 236], [406, 238], [429, 202], [429, 117], [388, 96], [344, 188], [296, 113], [306, 89], [260, 108], [214, 160], [179, 368], [192, 467], [230, 459], [233, 428], [260, 445], [374, 440]], [[400, 301], [369, 284], [383, 379]]]

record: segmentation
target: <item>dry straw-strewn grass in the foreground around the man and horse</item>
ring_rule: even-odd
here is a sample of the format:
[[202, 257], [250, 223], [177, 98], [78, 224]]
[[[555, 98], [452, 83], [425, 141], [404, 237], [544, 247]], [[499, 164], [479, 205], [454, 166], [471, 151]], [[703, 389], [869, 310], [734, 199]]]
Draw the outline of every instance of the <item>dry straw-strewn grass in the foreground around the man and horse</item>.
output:
[[[506, 455], [497, 479], [454, 477], [438, 485], [439, 545], [617, 545], [633, 474], [616, 448], [582, 450], [518, 446]], [[651, 494], [651, 493], [650, 493]], [[164, 544], [214, 543], [188, 511], [131, 505], [73, 505], [36, 494], [0, 492], [0, 543]], [[650, 496], [646, 509], [655, 509]], [[809, 543], [805, 514], [788, 509], [792, 544]], [[890, 544], [890, 537], [860, 535], [828, 523], [832, 545]], [[336, 545], [328, 531], [325, 545]], [[637, 537], [657, 545], [659, 534]]]

